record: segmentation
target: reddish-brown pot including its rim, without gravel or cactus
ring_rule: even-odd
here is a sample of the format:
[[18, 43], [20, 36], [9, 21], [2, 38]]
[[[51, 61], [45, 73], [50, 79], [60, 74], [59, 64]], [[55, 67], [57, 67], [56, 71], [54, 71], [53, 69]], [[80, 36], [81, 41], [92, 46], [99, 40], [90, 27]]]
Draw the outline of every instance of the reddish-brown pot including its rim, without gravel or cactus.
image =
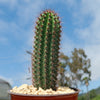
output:
[[58, 95], [26, 95], [9, 92], [11, 100], [78, 100], [79, 90], [74, 89], [75, 93]]

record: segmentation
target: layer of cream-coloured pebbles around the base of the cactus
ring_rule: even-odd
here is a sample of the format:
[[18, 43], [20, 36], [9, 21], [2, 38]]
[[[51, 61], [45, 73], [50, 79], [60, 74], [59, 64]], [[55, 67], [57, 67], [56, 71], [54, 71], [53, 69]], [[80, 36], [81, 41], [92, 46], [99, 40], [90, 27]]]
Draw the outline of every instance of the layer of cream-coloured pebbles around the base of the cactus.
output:
[[75, 91], [68, 87], [58, 87], [57, 91], [53, 91], [51, 88], [44, 90], [41, 87], [37, 90], [33, 85], [23, 84], [20, 87], [15, 86], [10, 92], [31, 95], [55, 95], [74, 93]]

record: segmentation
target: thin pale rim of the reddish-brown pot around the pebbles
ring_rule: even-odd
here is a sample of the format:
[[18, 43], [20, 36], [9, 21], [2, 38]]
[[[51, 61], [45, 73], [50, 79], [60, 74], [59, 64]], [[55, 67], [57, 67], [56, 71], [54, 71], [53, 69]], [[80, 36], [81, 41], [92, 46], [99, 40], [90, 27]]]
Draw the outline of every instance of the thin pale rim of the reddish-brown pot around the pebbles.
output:
[[[71, 88], [71, 87], [70, 87]], [[75, 92], [73, 93], [63, 93], [63, 94], [44, 94], [44, 95], [35, 95], [35, 94], [21, 94], [21, 93], [14, 93], [14, 92], [10, 92], [10, 90], [8, 91], [9, 94], [11, 95], [18, 95], [18, 96], [35, 96], [35, 97], [49, 97], [49, 96], [66, 96], [66, 95], [76, 95], [80, 92], [80, 90], [76, 89], [76, 88], [71, 88], [73, 90], [75, 90]]]

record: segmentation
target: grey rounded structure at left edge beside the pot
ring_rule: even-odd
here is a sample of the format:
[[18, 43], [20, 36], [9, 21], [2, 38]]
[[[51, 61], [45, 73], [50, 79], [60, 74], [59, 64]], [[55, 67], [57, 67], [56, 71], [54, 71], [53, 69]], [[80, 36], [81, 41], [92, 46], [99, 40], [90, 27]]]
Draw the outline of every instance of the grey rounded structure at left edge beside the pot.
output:
[[3, 80], [0, 79], [0, 100], [10, 100], [8, 90], [11, 89], [11, 85]]

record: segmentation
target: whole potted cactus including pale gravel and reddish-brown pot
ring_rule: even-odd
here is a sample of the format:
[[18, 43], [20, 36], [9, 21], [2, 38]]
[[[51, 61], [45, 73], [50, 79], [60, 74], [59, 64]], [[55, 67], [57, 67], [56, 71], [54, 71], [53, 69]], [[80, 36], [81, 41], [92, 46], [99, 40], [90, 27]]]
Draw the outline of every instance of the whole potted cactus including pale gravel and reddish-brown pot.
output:
[[43, 11], [38, 17], [32, 54], [32, 85], [14, 87], [10, 91], [12, 100], [77, 100], [77, 89], [57, 87], [60, 24], [59, 16], [51, 10]]

